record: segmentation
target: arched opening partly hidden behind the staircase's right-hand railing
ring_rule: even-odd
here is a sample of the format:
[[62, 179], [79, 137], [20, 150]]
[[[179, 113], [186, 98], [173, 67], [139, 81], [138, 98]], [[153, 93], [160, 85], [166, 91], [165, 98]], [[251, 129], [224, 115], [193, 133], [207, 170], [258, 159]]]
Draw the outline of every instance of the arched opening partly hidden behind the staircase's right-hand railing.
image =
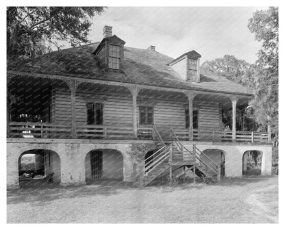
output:
[[[203, 155], [204, 154], [204, 155]], [[215, 164], [221, 165], [221, 176], [225, 176], [225, 152], [221, 149], [206, 149], [200, 154], [201, 161], [205, 162], [208, 166], [215, 169]], [[208, 159], [210, 158], [210, 159]], [[211, 160], [213, 162], [211, 162]], [[202, 165], [203, 166], [203, 165]], [[212, 173], [212, 171], [205, 166], [205, 170]]]

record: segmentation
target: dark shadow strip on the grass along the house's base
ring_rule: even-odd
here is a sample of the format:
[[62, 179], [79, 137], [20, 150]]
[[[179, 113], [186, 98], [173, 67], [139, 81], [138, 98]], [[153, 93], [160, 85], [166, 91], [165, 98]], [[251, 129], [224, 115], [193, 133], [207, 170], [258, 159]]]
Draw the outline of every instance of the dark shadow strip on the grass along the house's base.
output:
[[[147, 192], [169, 193], [177, 190], [201, 190], [210, 186], [247, 186], [252, 183], [260, 183], [267, 181], [275, 176], [243, 176], [241, 178], [226, 178], [219, 183], [204, 183], [201, 179], [197, 179], [195, 185], [193, 179], [186, 181], [177, 181], [175, 186], [169, 186], [168, 181], [153, 181], [151, 185], [144, 188]], [[50, 201], [57, 199], [73, 199], [88, 196], [112, 196], [132, 190], [137, 192], [138, 188], [132, 186], [132, 183], [125, 183], [116, 180], [94, 180], [87, 181], [86, 186], [60, 186], [58, 183], [45, 183], [45, 181], [21, 181], [21, 188], [18, 190], [9, 190], [7, 192], [7, 203], [35, 203], [35, 205], [46, 205]]]

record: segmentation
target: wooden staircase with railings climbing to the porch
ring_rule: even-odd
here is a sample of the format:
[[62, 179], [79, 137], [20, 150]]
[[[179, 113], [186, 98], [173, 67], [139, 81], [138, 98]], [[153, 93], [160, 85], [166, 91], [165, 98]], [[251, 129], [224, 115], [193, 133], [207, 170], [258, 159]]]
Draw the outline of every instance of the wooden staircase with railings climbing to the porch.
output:
[[[166, 170], [169, 170], [169, 177], [173, 179], [173, 172], [179, 168], [183, 168], [182, 172], [175, 175], [175, 178], [186, 175], [188, 171], [193, 174], [193, 181], [195, 183], [196, 175], [207, 181], [209, 178], [217, 177], [217, 180], [221, 178], [221, 167], [216, 164], [212, 159], [205, 155], [202, 151], [197, 149], [193, 144], [193, 150], [190, 151], [179, 141], [173, 129], [170, 129], [170, 136], [172, 138], [171, 144], [166, 144], [156, 127], [153, 127], [153, 133], [156, 133], [156, 141], [159, 146], [158, 151], [145, 159], [144, 164], [139, 166], [139, 172], [134, 176], [134, 183], [138, 182], [140, 188], [143, 188], [153, 180], [163, 175]], [[199, 153], [197, 155], [197, 153]], [[203, 162], [200, 155], [206, 157], [210, 162], [216, 166], [211, 168]], [[175, 167], [175, 170], [173, 170]], [[195, 172], [195, 174], [193, 173]]]

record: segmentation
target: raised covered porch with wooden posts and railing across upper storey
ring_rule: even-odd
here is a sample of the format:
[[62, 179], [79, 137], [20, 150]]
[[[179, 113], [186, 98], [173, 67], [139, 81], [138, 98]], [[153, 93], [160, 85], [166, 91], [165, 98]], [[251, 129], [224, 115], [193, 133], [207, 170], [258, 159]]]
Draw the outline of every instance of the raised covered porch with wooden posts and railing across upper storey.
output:
[[[22, 101], [16, 103], [17, 113], [8, 110], [8, 138], [158, 140], [161, 136], [166, 141], [171, 140], [173, 129], [184, 141], [271, 141], [270, 124], [269, 132], [237, 130], [236, 108], [246, 107], [251, 99], [248, 96], [71, 77], [16, 76], [21, 81], [16, 81], [14, 90], [21, 92]], [[56, 88], [64, 91], [58, 98], [53, 93]], [[103, 105], [102, 114], [97, 114], [101, 120], [96, 122], [88, 121], [90, 112], [86, 108], [93, 101]], [[149, 111], [153, 114], [143, 114], [141, 107], [152, 108]], [[226, 129], [223, 111], [232, 113], [231, 127]], [[40, 118], [18, 119], [27, 113], [34, 118], [40, 114]]]

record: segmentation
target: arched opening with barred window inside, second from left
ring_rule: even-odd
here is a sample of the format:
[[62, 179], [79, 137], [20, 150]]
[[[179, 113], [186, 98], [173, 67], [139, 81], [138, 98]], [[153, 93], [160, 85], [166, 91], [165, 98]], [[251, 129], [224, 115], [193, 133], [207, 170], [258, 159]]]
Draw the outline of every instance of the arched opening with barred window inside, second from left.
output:
[[86, 182], [123, 180], [123, 155], [116, 149], [95, 149], [86, 154]]

